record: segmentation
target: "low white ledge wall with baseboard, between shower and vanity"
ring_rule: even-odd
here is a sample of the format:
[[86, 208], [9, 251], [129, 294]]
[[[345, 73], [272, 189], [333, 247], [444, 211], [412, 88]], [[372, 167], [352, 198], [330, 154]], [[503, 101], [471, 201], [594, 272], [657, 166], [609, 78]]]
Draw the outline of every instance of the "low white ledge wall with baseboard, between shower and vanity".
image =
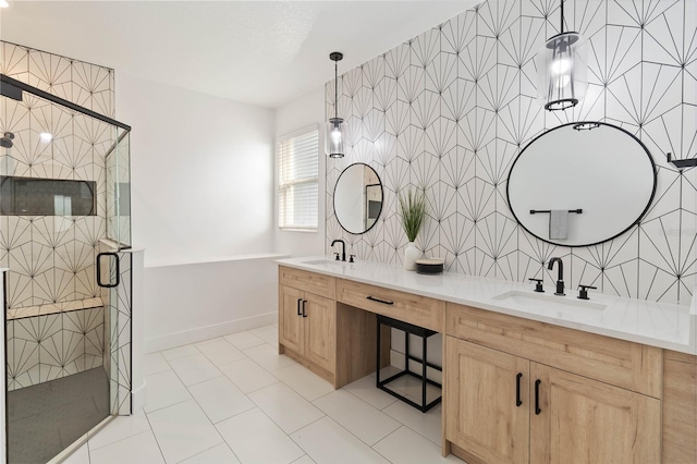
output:
[[145, 268], [145, 352], [276, 323], [274, 261], [283, 257], [252, 255]]

